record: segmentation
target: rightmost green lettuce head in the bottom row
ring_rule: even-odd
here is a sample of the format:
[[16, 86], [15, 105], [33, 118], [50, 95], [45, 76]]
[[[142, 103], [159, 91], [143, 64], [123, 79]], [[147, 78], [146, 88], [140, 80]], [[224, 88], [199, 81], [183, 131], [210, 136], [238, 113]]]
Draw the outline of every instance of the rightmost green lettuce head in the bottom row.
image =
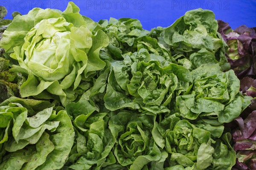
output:
[[[158, 127], [169, 153], [166, 169], [231, 169], [236, 154], [229, 144], [230, 133], [223, 133], [224, 128], [220, 126], [211, 126], [204, 121], [201, 123], [205, 126], [191, 124], [176, 116], [178, 113], [169, 115]], [[218, 139], [214, 138], [216, 135]]]

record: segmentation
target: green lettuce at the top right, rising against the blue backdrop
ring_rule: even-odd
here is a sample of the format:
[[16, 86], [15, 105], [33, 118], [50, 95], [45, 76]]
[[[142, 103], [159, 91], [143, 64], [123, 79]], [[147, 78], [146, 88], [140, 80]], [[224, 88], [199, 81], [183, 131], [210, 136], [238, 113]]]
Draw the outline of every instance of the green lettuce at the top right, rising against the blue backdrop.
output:
[[[210, 10], [188, 11], [171, 26], [160, 29], [158, 40], [170, 49], [173, 58], [185, 67], [196, 69], [200, 62], [218, 63], [222, 70], [230, 69], [225, 57], [227, 48], [217, 32], [218, 23]], [[192, 60], [192, 57], [200, 60]]]

